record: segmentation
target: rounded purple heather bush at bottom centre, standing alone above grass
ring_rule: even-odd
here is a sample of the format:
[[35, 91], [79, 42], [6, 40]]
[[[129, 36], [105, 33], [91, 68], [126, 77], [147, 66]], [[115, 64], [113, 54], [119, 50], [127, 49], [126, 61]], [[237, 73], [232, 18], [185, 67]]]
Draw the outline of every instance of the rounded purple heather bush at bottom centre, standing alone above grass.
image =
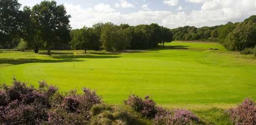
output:
[[146, 96], [143, 100], [141, 97], [132, 94], [128, 97], [128, 100], [124, 100], [124, 103], [140, 112], [144, 117], [154, 118], [157, 114], [156, 103], [149, 96]]

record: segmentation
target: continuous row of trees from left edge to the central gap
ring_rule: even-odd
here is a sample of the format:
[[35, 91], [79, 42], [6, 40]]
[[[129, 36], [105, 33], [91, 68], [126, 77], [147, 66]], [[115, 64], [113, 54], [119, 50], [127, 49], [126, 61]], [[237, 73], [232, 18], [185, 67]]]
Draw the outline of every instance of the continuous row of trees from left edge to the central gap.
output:
[[0, 48], [5, 49], [27, 46], [36, 53], [47, 49], [50, 55], [52, 49], [120, 51], [148, 49], [172, 41], [170, 29], [158, 24], [97, 23], [91, 28], [71, 30], [71, 16], [56, 1], [44, 0], [21, 10], [18, 0], [1, 0], [0, 10]]

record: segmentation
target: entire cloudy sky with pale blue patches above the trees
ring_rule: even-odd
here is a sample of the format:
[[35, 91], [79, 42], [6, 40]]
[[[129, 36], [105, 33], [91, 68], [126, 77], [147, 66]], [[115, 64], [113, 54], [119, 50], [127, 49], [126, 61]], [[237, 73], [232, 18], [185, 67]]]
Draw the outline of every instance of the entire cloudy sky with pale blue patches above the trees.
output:
[[[41, 0], [18, 0], [33, 6]], [[112, 22], [129, 25], [158, 23], [168, 28], [240, 22], [256, 15], [256, 0], [56, 0], [72, 16], [73, 28]]]

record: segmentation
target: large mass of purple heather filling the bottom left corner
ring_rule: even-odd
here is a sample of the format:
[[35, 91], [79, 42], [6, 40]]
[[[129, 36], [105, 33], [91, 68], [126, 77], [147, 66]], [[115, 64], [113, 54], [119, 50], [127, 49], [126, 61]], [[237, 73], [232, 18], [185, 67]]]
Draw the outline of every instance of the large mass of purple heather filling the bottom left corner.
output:
[[0, 90], [0, 125], [86, 125], [91, 120], [91, 107], [102, 102], [95, 90], [84, 88], [67, 94], [39, 81], [39, 88], [27, 87], [14, 79], [12, 86]]

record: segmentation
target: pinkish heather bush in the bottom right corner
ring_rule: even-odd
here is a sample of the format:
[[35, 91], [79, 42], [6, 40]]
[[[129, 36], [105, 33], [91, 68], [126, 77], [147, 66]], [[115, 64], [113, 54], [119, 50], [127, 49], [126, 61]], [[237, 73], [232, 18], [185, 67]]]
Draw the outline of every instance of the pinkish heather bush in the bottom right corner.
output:
[[235, 125], [256, 125], [255, 102], [244, 100], [238, 107], [230, 110], [230, 119]]

